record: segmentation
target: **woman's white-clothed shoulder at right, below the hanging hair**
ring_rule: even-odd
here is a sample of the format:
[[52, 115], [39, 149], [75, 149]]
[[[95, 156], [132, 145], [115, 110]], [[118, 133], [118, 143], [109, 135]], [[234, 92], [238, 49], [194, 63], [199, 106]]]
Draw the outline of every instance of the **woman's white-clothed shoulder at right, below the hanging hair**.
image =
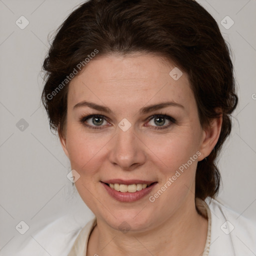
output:
[[256, 221], [244, 217], [219, 199], [205, 200], [211, 213], [209, 256], [255, 255]]

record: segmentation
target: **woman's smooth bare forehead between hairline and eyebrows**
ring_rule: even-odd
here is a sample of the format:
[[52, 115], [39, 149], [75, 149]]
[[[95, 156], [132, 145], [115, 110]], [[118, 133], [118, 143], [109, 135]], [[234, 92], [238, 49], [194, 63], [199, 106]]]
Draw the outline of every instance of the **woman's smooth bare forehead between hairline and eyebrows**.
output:
[[173, 68], [181, 74], [175, 65], [151, 54], [99, 56], [69, 83], [68, 104], [90, 99], [125, 108], [160, 99], [186, 102], [189, 107], [193, 94], [188, 76], [183, 72], [177, 80], [173, 79], [169, 74]]

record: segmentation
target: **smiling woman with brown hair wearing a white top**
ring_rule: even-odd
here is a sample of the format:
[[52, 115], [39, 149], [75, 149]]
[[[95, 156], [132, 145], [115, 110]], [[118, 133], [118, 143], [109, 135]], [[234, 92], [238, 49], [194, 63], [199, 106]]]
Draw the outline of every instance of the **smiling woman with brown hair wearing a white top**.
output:
[[50, 126], [95, 218], [65, 237], [55, 221], [41, 254], [31, 242], [20, 255], [256, 253], [255, 223], [215, 199], [237, 96], [202, 6], [90, 0], [60, 26], [43, 68]]

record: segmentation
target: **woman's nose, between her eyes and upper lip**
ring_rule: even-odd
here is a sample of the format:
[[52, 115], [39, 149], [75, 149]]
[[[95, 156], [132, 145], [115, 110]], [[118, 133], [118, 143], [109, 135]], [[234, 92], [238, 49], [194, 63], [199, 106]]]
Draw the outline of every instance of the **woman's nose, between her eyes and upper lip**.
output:
[[112, 139], [109, 161], [124, 170], [133, 170], [146, 160], [145, 144], [134, 133], [133, 125], [123, 131], [117, 128], [117, 134]]

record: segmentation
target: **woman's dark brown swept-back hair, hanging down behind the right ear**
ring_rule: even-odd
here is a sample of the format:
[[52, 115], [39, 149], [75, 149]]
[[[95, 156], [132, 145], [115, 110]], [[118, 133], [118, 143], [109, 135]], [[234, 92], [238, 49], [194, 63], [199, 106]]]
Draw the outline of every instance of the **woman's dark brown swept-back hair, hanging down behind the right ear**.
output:
[[230, 114], [237, 105], [229, 49], [214, 18], [194, 0], [89, 0], [81, 4], [57, 29], [43, 62], [46, 79], [41, 99], [50, 128], [59, 129], [60, 134], [65, 129], [67, 76], [79, 63], [85, 66], [85, 58], [95, 49], [95, 57], [132, 52], [167, 57], [187, 72], [202, 127], [218, 117], [216, 109], [221, 109], [218, 141], [207, 159], [198, 162], [195, 179], [195, 197], [214, 198], [220, 182], [215, 161], [231, 131]]

